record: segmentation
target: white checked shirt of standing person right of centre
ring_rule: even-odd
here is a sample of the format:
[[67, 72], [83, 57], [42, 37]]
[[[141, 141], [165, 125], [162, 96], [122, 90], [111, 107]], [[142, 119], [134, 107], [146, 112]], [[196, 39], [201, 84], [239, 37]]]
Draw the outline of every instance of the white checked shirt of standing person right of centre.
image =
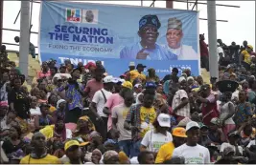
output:
[[[182, 98], [188, 98], [188, 94], [184, 90], [178, 90], [175, 93], [174, 99], [173, 99], [173, 110], [182, 102]], [[190, 105], [187, 104], [183, 108], [179, 109], [176, 113], [176, 115], [184, 116], [184, 117], [190, 117]]]

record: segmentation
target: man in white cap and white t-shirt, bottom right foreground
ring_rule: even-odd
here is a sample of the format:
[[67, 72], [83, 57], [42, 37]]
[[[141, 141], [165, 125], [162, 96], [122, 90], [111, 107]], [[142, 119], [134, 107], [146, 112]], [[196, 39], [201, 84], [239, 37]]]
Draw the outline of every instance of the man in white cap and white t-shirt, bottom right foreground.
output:
[[210, 164], [209, 150], [198, 145], [199, 125], [195, 121], [190, 121], [186, 125], [187, 142], [175, 148], [173, 156], [183, 156], [185, 164]]

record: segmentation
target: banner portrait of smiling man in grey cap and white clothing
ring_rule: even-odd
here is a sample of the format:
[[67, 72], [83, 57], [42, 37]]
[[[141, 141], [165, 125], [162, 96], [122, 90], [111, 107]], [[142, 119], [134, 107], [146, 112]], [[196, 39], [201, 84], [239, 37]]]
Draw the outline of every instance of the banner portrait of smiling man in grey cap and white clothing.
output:
[[192, 46], [182, 44], [182, 22], [177, 18], [168, 19], [166, 32], [167, 49], [177, 55], [178, 60], [198, 60], [198, 53]]

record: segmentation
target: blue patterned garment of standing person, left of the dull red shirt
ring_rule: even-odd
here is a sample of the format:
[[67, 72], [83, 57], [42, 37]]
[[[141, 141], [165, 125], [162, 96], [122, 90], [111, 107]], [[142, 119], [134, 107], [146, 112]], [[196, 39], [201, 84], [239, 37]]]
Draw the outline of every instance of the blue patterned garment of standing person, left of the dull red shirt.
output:
[[[76, 84], [68, 84], [68, 88], [66, 90], [66, 98], [70, 100], [68, 104], [68, 109], [73, 110], [75, 108], [82, 109], [82, 96], [81, 93], [76, 89]], [[82, 85], [79, 83], [79, 88], [81, 91], [83, 91]]]

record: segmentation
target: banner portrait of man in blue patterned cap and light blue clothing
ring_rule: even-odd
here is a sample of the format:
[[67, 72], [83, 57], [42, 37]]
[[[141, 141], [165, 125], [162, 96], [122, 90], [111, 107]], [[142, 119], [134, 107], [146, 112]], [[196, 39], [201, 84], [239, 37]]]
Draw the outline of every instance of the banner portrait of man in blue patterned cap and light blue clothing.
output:
[[147, 60], [176, 60], [173, 52], [156, 44], [161, 23], [156, 15], [145, 15], [139, 21], [138, 35], [141, 41], [126, 46], [120, 52], [120, 58]]

